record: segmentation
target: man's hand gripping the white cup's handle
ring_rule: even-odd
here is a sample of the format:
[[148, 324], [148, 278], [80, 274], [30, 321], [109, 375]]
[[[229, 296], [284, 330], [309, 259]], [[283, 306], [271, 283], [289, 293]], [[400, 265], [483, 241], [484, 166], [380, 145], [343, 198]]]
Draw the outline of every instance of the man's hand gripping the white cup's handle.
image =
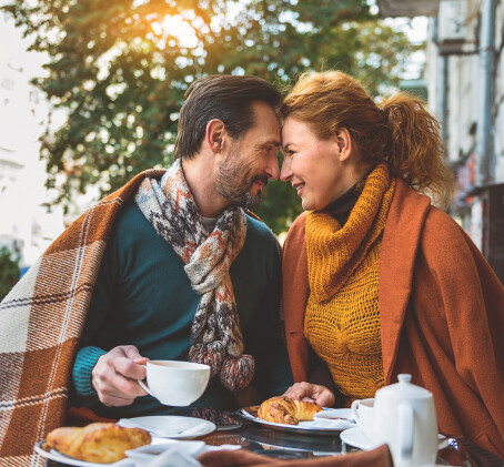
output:
[[133, 345], [120, 345], [98, 358], [91, 384], [100, 402], [108, 407], [130, 405], [147, 393], [137, 383], [145, 377], [144, 358]]

